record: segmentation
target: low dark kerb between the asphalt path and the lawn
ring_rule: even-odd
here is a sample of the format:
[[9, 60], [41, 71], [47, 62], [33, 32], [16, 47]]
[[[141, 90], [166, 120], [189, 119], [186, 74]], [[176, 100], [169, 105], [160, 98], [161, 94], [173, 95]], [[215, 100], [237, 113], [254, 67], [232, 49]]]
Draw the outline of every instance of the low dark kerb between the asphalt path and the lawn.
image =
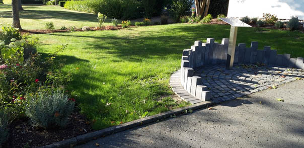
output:
[[178, 109], [174, 109], [168, 112], [164, 112], [164, 113], [159, 113], [157, 115], [153, 115], [153, 116], [148, 116], [145, 118], [141, 118], [141, 119], [137, 119], [134, 121], [130, 121], [127, 123], [123, 123], [120, 125], [116, 125], [116, 126], [112, 126], [112, 127], [108, 127], [105, 129], [101, 129], [98, 131], [94, 131], [94, 132], [90, 132], [90, 133], [86, 133], [83, 135], [79, 135], [77, 137], [72, 137], [70, 139], [66, 139], [63, 141], [59, 141], [59, 142], [55, 142], [53, 144], [50, 145], [45, 145], [45, 146], [41, 146], [39, 148], [55, 148], [55, 147], [71, 147], [71, 146], [75, 146], [75, 145], [79, 145], [85, 142], [88, 142], [90, 140], [94, 140], [96, 138], [99, 137], [104, 137], [107, 135], [111, 135], [120, 131], [124, 131], [130, 128], [134, 128], [137, 126], [141, 126], [144, 124], [148, 124], [148, 123], [152, 123], [155, 122], [157, 120], [163, 120], [166, 118], [169, 118], [171, 115], [180, 115], [182, 114], [185, 110], [189, 111], [189, 110], [198, 110], [198, 109], [202, 109], [202, 108], [206, 108], [208, 106], [212, 106], [215, 105], [217, 103], [214, 102], [201, 102], [201, 103], [197, 103], [188, 107], [183, 107], [183, 108], [178, 108]]

